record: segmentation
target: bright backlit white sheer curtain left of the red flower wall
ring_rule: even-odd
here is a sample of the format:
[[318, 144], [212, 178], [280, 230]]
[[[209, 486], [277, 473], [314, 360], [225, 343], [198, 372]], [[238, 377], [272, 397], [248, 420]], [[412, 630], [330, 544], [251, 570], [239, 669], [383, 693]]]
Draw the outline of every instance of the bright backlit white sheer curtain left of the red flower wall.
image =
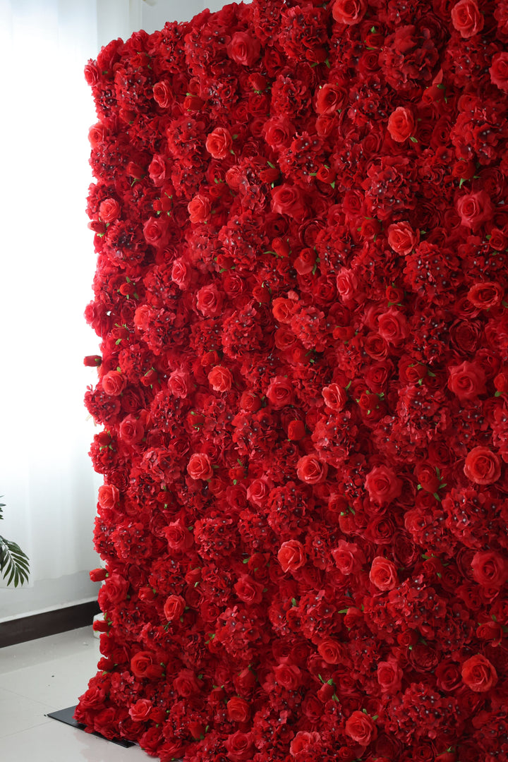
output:
[[94, 2], [0, 4], [2, 296], [0, 533], [30, 556], [30, 586], [0, 590], [0, 620], [90, 600], [97, 480], [82, 398], [95, 354], [83, 320], [94, 253], [85, 197], [95, 114], [83, 67]]

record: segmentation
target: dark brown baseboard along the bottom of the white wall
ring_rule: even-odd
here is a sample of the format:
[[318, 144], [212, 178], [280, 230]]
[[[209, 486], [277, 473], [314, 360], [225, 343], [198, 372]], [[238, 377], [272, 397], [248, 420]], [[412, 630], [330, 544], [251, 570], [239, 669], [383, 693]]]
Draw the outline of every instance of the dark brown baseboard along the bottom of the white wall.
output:
[[99, 604], [96, 600], [92, 600], [88, 604], [67, 606], [54, 611], [45, 611], [42, 614], [34, 614], [34, 616], [22, 616], [10, 622], [2, 622], [0, 623], [0, 648], [91, 625], [95, 614], [98, 613], [100, 613]]

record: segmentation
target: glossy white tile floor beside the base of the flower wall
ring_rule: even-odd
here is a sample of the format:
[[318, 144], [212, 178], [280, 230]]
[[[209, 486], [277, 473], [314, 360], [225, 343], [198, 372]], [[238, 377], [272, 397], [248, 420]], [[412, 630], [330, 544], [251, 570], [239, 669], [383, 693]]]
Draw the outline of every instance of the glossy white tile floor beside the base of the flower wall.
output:
[[91, 626], [0, 648], [2, 762], [149, 762], [138, 746], [126, 749], [46, 717], [78, 703], [99, 658]]

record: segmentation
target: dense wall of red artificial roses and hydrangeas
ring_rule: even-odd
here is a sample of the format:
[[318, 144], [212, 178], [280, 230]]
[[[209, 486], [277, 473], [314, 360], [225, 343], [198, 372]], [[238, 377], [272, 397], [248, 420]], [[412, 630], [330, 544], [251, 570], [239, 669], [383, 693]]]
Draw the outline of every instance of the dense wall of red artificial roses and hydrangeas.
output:
[[254, 0], [88, 63], [90, 731], [508, 760], [507, 40], [504, 0]]

